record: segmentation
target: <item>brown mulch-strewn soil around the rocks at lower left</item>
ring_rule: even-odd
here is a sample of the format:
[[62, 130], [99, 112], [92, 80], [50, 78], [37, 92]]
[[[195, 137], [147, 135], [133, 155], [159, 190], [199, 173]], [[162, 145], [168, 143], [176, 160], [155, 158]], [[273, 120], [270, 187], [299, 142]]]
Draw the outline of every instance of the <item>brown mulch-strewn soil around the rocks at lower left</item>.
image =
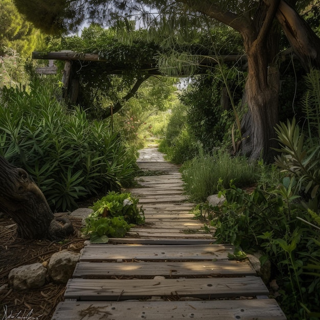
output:
[[57, 304], [63, 300], [65, 285], [47, 283], [39, 289], [16, 291], [7, 287], [11, 269], [35, 262], [49, 261], [62, 249], [80, 252], [85, 239], [79, 229], [81, 218], [67, 216], [75, 232], [56, 243], [47, 240], [24, 240], [16, 237], [16, 224], [7, 216], [0, 217], [0, 320], [52, 318]]

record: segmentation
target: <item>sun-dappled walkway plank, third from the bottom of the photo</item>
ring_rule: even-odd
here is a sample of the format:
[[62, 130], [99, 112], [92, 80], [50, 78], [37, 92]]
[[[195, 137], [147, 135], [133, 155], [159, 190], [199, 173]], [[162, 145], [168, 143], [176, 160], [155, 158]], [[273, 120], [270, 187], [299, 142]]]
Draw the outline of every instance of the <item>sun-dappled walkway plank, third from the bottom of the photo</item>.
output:
[[73, 278], [106, 279], [114, 276], [166, 278], [204, 276], [255, 276], [248, 262], [234, 260], [183, 262], [80, 262]]

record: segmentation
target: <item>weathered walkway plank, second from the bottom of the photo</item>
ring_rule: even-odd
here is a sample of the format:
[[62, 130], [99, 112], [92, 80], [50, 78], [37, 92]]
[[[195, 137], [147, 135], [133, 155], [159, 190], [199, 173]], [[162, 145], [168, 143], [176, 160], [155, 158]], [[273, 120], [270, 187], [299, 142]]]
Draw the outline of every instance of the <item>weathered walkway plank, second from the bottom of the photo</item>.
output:
[[129, 300], [151, 296], [193, 296], [201, 299], [268, 295], [259, 277], [197, 279], [70, 279], [64, 299]]

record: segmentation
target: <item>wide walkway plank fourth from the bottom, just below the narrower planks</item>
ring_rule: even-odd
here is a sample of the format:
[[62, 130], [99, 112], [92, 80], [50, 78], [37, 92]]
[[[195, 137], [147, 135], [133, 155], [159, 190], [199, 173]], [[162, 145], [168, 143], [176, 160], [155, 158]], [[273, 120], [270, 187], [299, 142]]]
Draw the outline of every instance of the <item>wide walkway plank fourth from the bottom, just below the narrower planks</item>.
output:
[[[190, 236], [190, 235], [188, 235]], [[208, 245], [113, 245], [100, 244], [84, 246], [80, 261], [126, 260], [213, 260], [228, 259], [227, 254], [234, 252], [234, 246], [224, 244]]]

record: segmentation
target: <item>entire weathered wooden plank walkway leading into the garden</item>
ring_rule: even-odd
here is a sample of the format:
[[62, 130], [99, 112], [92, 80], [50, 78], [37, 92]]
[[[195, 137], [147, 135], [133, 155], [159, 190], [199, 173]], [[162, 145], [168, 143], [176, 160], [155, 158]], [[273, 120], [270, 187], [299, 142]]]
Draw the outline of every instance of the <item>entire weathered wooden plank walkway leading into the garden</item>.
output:
[[126, 238], [83, 248], [53, 320], [286, 319], [248, 261], [228, 259], [189, 212], [178, 167], [155, 148], [138, 165], [163, 175], [139, 178], [146, 225]]

